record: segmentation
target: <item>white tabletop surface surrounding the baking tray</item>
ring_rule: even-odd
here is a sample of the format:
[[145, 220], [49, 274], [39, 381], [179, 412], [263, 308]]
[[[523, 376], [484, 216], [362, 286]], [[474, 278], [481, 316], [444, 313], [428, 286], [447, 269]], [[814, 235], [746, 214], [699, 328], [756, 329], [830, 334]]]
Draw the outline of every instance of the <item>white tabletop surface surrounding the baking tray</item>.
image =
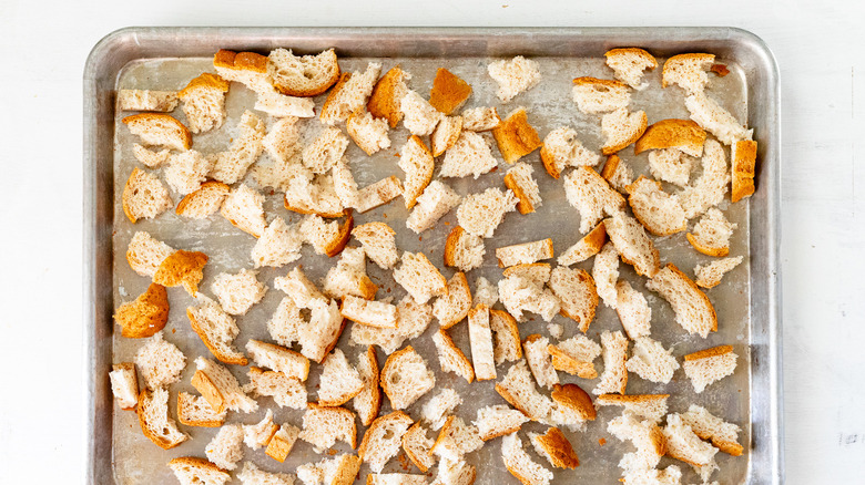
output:
[[83, 482], [81, 78], [128, 25], [753, 31], [782, 79], [787, 483], [865, 483], [865, 3], [505, 1], [0, 0], [0, 483]]

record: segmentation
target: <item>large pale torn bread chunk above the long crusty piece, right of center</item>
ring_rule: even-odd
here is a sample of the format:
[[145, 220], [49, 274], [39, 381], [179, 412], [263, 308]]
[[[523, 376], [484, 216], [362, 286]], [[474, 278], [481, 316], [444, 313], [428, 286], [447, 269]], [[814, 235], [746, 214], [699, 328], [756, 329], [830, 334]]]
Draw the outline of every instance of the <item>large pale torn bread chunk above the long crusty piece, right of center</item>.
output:
[[580, 166], [564, 176], [564, 195], [580, 213], [580, 233], [591, 230], [606, 216], [625, 209], [624, 197], [590, 167]]

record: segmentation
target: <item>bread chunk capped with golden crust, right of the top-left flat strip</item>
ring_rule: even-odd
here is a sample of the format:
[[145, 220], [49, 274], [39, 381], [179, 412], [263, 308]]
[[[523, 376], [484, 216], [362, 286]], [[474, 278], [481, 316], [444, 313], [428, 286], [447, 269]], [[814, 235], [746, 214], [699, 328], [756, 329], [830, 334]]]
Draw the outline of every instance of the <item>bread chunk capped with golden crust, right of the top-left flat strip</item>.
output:
[[193, 79], [177, 93], [183, 114], [192, 133], [203, 133], [222, 126], [225, 120], [225, 94], [228, 82], [205, 72]]

